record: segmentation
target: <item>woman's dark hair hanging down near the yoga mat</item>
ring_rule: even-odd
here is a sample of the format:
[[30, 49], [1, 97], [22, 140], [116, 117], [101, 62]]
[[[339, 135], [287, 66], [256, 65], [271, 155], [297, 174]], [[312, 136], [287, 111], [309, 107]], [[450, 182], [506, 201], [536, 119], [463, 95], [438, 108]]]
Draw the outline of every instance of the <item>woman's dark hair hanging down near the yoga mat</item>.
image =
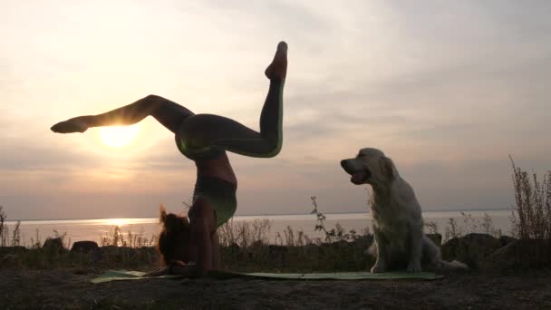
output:
[[157, 242], [157, 250], [160, 253], [161, 262], [165, 265], [175, 261], [188, 263], [189, 219], [167, 213], [161, 205], [160, 224], [162, 224], [162, 229]]

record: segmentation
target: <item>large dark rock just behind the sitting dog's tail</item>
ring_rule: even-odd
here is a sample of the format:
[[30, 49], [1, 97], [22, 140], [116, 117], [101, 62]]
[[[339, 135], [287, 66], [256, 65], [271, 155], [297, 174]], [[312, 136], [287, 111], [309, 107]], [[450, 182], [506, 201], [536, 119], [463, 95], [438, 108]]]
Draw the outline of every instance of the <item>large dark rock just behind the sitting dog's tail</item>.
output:
[[481, 263], [500, 247], [499, 240], [486, 234], [469, 234], [454, 237], [440, 247], [442, 258], [459, 260], [472, 269], [479, 269]]

